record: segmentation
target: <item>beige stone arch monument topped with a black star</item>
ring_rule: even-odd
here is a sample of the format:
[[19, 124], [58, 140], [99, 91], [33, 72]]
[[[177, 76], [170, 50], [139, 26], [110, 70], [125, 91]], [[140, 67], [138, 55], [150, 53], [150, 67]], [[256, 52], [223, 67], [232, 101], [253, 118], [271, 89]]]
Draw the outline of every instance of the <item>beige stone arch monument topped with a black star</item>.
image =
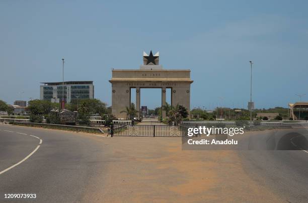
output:
[[[139, 69], [113, 69], [112, 78], [112, 114], [119, 119], [126, 119], [120, 113], [129, 107], [131, 89], [136, 91], [136, 109], [140, 110], [140, 88], [161, 88], [162, 106], [166, 104], [166, 88], [171, 88], [171, 105], [183, 105], [190, 109], [190, 70], [167, 70], [159, 65], [159, 52], [149, 55], [143, 52], [143, 65]], [[139, 117], [140, 114], [138, 113]], [[163, 118], [166, 112], [163, 111]]]

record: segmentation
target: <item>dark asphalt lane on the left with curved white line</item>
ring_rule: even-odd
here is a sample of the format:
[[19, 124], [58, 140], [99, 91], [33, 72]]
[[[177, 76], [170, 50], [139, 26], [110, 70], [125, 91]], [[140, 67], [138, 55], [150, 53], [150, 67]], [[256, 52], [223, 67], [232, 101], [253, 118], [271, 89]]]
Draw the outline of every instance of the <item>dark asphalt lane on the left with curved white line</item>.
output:
[[104, 145], [76, 133], [0, 125], [0, 171], [36, 149], [40, 140], [29, 135], [42, 144], [0, 174], [0, 201], [4, 193], [36, 193], [38, 202], [81, 201], [90, 181], [104, 171]]

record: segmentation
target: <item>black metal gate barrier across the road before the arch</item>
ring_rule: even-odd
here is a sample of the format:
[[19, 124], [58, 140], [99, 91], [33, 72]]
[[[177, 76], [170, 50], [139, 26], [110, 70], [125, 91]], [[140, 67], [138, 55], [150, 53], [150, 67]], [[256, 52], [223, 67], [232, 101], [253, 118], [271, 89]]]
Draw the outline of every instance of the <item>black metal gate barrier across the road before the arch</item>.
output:
[[[138, 137], [184, 137], [183, 126], [168, 125], [112, 125], [113, 136], [138, 136]], [[186, 130], [186, 128], [185, 128]]]

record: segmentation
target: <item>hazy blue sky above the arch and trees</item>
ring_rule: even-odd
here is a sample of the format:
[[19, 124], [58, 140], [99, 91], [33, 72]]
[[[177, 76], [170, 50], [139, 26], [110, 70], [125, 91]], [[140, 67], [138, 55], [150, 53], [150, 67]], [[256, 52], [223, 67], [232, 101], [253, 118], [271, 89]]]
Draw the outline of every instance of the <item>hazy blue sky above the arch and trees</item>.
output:
[[[307, 1], [1, 1], [0, 99], [39, 98], [39, 85], [94, 80], [111, 104], [111, 69], [137, 69], [160, 51], [166, 69], [191, 69], [191, 108], [256, 108], [308, 93]], [[141, 105], [160, 105], [142, 93]], [[308, 100], [308, 95], [303, 97]]]

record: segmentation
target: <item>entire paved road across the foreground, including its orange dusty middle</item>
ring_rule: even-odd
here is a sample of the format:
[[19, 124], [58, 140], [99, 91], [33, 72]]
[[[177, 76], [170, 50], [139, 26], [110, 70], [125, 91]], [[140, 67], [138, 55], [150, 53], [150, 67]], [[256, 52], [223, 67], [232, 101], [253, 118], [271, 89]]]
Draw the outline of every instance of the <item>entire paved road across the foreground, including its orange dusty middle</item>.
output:
[[182, 151], [180, 138], [0, 125], [0, 201], [36, 193], [38, 202], [308, 202], [307, 171], [302, 150]]

